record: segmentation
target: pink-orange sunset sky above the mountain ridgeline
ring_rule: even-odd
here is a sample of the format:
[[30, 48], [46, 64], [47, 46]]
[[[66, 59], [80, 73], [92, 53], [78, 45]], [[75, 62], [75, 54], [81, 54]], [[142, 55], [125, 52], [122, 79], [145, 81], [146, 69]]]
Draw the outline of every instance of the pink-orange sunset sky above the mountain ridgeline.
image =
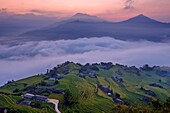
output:
[[75, 13], [123, 20], [145, 14], [170, 22], [170, 0], [0, 0], [1, 11], [66, 17]]

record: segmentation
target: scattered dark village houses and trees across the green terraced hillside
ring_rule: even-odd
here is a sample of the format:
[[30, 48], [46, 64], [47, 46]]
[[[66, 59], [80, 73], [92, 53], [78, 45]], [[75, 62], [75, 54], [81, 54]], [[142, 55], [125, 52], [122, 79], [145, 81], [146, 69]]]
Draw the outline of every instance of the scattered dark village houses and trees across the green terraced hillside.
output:
[[[112, 69], [114, 66], [120, 67], [120, 69], [114, 70], [114, 72], [111, 75], [111, 80], [114, 81], [117, 84], [124, 85], [126, 83], [126, 80], [122, 77], [124, 73], [122, 73], [121, 70], [123, 70], [126, 73], [134, 74], [136, 76], [142, 76], [141, 70], [142, 71], [152, 71], [154, 68], [157, 67], [149, 67], [148, 65], [144, 65], [143, 67], [136, 68], [135, 66], [132, 67], [127, 67], [124, 65], [116, 64], [113, 65], [112, 63], [100, 63], [100, 64], [74, 64], [76, 65], [75, 67], [70, 67], [70, 64], [74, 64], [72, 62], [65, 62], [61, 65], [57, 65], [53, 69], [47, 69], [47, 72], [44, 74], [43, 80], [37, 84], [33, 84], [31, 86], [27, 86], [22, 90], [15, 89], [13, 92], [18, 93], [18, 92], [25, 92], [20, 97], [23, 98], [22, 101], [19, 102], [18, 105], [21, 106], [31, 106], [37, 108], [38, 105], [35, 105], [36, 102], [39, 103], [47, 103], [49, 102], [50, 98], [48, 97], [50, 94], [58, 94], [58, 95], [65, 95], [65, 89], [60, 89], [60, 88], [55, 88], [54, 86], [57, 86], [61, 83], [61, 80], [64, 79], [69, 73], [75, 71], [77, 74], [74, 76], [77, 76], [81, 79], [86, 80], [87, 78], [89, 79], [94, 79], [98, 80], [99, 71], [104, 70], [108, 71]], [[164, 74], [167, 74], [168, 72], [165, 71], [157, 71], [158, 76], [162, 76]], [[11, 81], [8, 84], [15, 82]], [[161, 81], [159, 81], [161, 82]], [[158, 83], [159, 83], [158, 82]], [[164, 87], [159, 85], [158, 83], [150, 83], [148, 84], [151, 87], [157, 87], [163, 89]], [[121, 95], [117, 92], [114, 91], [114, 89], [111, 89], [110, 86], [105, 87], [102, 84], [97, 84], [97, 89], [101, 90], [105, 95], [107, 95], [109, 98], [112, 98], [113, 102], [117, 104], [122, 104], [126, 105], [128, 104], [126, 101], [124, 101], [123, 98], [121, 98]], [[146, 95], [151, 96], [151, 97], [157, 97], [157, 94], [152, 91], [145, 89], [145, 87], [141, 86], [139, 89], [143, 91]], [[96, 92], [98, 94], [98, 92]], [[151, 101], [151, 98], [145, 96], [143, 98], [139, 98], [141, 101], [145, 101], [149, 103]], [[58, 106], [58, 104], [57, 104]], [[0, 110], [5, 111], [5, 107], [0, 107]]]

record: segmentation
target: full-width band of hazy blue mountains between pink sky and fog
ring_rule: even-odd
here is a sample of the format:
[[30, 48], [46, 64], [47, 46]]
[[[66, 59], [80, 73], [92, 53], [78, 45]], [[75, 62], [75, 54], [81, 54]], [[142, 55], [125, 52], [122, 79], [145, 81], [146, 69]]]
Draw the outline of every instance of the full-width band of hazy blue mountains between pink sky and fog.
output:
[[0, 13], [0, 36], [26, 40], [61, 40], [110, 36], [119, 40], [169, 40], [170, 24], [143, 14], [122, 22], [77, 13], [65, 20], [34, 14]]

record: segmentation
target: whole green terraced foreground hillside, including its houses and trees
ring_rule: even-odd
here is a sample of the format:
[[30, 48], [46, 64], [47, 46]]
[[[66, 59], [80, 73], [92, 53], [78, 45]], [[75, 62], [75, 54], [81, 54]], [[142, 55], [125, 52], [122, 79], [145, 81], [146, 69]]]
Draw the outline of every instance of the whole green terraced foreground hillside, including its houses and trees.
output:
[[[21, 97], [30, 93], [59, 100], [62, 113], [114, 113], [135, 108], [152, 112], [153, 101], [163, 103], [170, 97], [169, 83], [167, 67], [66, 62], [42, 75], [8, 81], [0, 87], [0, 106], [17, 113], [55, 112], [53, 104]], [[24, 100], [33, 104], [20, 105]]]

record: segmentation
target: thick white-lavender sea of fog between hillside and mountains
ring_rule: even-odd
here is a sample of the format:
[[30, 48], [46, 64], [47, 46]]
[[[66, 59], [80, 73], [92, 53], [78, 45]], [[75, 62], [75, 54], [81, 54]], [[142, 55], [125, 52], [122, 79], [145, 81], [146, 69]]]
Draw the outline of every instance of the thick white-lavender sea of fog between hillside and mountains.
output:
[[112, 37], [5, 42], [0, 44], [0, 85], [45, 73], [65, 61], [170, 66], [170, 43], [121, 41]]

